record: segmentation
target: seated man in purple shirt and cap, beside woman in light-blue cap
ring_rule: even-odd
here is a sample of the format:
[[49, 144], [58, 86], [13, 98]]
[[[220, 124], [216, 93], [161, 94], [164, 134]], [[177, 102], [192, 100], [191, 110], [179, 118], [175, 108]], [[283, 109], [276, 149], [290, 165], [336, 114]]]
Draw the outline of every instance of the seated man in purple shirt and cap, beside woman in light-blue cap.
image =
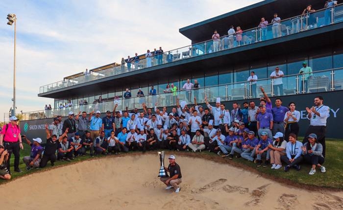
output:
[[267, 132], [263, 131], [261, 133], [261, 140], [258, 142], [257, 146], [255, 147], [255, 154], [257, 156], [257, 167], [262, 165], [262, 156], [266, 157], [265, 163], [263, 163], [263, 167], [267, 167], [270, 158], [270, 148], [268, 147], [269, 144], [272, 144], [273, 141], [268, 138]]

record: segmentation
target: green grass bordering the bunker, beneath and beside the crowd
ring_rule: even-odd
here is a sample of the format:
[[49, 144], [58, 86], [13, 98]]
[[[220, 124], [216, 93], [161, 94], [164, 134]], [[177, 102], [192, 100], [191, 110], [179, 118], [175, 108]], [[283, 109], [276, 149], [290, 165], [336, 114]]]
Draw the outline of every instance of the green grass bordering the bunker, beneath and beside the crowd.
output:
[[[42, 170], [51, 169], [50, 164], [44, 169], [31, 169], [30, 171], [25, 171], [25, 164], [23, 163], [22, 158], [24, 156], [28, 156], [30, 154], [30, 147], [25, 144], [25, 149], [21, 150], [21, 160], [19, 167], [23, 170], [22, 173], [13, 172], [13, 161], [14, 157], [12, 155], [11, 158], [11, 170], [12, 170], [12, 179], [18, 178], [27, 174], [36, 173]], [[186, 152], [184, 153], [186, 155]], [[214, 153], [203, 152], [203, 156], [213, 156], [217, 158], [218, 156]], [[291, 169], [289, 172], [284, 172], [281, 169], [279, 170], [272, 170], [270, 166], [267, 168], [259, 167], [257, 168], [254, 163], [247, 162], [245, 159], [236, 159], [228, 160], [226, 162], [234, 162], [239, 165], [245, 165], [247, 167], [251, 167], [253, 170], [257, 170], [259, 173], [266, 174], [268, 176], [273, 176], [274, 179], [283, 178], [292, 181], [298, 187], [306, 187], [306, 186], [316, 186], [316, 187], [330, 187], [336, 189], [343, 189], [343, 140], [326, 140], [326, 154], [327, 157], [325, 158], [325, 163], [323, 164], [326, 167], [326, 173], [321, 173], [320, 170], [317, 170], [317, 173], [313, 176], [308, 175], [311, 166], [310, 165], [301, 165], [301, 170], [296, 171]], [[201, 154], [196, 153], [197, 156]], [[98, 156], [98, 158], [103, 158], [105, 156]], [[219, 157], [218, 157], [219, 158]], [[72, 163], [78, 163], [87, 159], [94, 159], [91, 158], [89, 155], [81, 156], [75, 158], [72, 162], [56, 162], [55, 166], [58, 165], [67, 165]], [[54, 166], [54, 167], [55, 167]], [[0, 180], [0, 184], [6, 183], [8, 181]]]

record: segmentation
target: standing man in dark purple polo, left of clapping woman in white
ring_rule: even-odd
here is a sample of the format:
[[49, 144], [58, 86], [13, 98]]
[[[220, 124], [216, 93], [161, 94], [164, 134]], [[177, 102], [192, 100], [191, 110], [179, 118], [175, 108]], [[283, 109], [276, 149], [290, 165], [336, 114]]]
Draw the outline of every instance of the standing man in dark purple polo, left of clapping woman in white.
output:
[[284, 124], [283, 120], [285, 118], [285, 114], [289, 111], [289, 109], [287, 107], [284, 107], [281, 105], [282, 105], [281, 98], [276, 98], [275, 99], [275, 106], [276, 107], [271, 109], [271, 111], [273, 113], [273, 119], [274, 119], [273, 130], [272, 130], [273, 136], [277, 132], [281, 132], [283, 134], [285, 133], [285, 124]]

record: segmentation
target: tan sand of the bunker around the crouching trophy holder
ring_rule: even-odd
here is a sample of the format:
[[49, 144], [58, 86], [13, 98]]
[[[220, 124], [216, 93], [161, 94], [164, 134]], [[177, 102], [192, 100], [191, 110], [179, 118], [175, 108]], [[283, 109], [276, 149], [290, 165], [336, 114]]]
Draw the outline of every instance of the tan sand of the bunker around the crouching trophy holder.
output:
[[157, 154], [111, 156], [0, 185], [0, 206], [4, 210], [343, 209], [343, 192], [287, 187], [201, 158], [176, 154], [176, 162], [183, 175], [178, 194], [165, 190], [157, 178]]

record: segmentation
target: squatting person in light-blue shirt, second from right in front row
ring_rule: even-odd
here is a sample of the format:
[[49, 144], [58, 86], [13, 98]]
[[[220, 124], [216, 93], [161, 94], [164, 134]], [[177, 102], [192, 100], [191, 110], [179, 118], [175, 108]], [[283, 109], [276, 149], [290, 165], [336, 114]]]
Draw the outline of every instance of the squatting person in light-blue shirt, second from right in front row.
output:
[[299, 163], [302, 161], [302, 143], [296, 140], [295, 134], [290, 134], [288, 139], [289, 141], [286, 144], [286, 155], [281, 157], [281, 160], [286, 163], [284, 170], [287, 172], [291, 167], [294, 167], [298, 171], [300, 170]]

